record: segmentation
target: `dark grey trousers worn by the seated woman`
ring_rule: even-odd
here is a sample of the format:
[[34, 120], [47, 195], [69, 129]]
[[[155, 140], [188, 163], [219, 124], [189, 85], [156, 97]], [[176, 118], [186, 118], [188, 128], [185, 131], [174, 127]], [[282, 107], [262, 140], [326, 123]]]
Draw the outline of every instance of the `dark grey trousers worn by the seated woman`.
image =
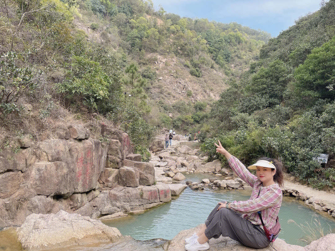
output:
[[[224, 201], [222, 201], [224, 203]], [[213, 209], [205, 221], [205, 235], [208, 239], [229, 236], [251, 248], [264, 248], [270, 244], [263, 229], [243, 219], [240, 215], [228, 208], [221, 208], [220, 204]]]

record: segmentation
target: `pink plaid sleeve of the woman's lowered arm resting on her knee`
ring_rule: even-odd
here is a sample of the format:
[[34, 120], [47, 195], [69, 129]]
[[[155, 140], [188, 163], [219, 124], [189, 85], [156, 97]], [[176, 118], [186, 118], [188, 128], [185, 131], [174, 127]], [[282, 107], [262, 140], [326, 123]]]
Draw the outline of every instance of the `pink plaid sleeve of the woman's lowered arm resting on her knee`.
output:
[[229, 204], [229, 207], [233, 211], [242, 213], [256, 213], [266, 208], [275, 206], [281, 202], [282, 191], [280, 188], [272, 187], [269, 190], [266, 189], [263, 194], [254, 199], [246, 201], [234, 201]]

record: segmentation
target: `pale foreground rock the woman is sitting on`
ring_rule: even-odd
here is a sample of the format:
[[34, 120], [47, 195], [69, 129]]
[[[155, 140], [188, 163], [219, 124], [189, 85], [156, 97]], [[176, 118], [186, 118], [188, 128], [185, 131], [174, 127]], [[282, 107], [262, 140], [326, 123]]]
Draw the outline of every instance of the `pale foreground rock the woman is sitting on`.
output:
[[[193, 233], [198, 232], [200, 228], [204, 224], [201, 224], [195, 228], [189, 229], [189, 230], [183, 230], [181, 231], [177, 236], [175, 236], [167, 245], [167, 248], [165, 251], [180, 251], [180, 250], [185, 250], [185, 239], [190, 237]], [[322, 239], [322, 238], [321, 238]], [[320, 240], [320, 239], [319, 239]], [[318, 240], [318, 241], [319, 241]], [[335, 244], [335, 238], [331, 240], [331, 238], [327, 238], [329, 244], [332, 243], [332, 245]], [[327, 245], [327, 247], [331, 247], [330, 245]], [[254, 248], [248, 248], [246, 246], [243, 246], [237, 241], [234, 241], [230, 239], [229, 237], [220, 237], [218, 239], [210, 239], [209, 240], [209, 245], [210, 248], [208, 249], [209, 251], [254, 251]], [[334, 250], [334, 249], [308, 249], [304, 247], [300, 247], [297, 245], [290, 245], [287, 244], [285, 241], [281, 239], [277, 239], [273, 243], [273, 247], [277, 251], [319, 251], [319, 250]], [[309, 247], [309, 246], [307, 246]], [[334, 248], [334, 246], [332, 247]], [[268, 246], [263, 249], [258, 249], [259, 251], [273, 251], [273, 248]]]

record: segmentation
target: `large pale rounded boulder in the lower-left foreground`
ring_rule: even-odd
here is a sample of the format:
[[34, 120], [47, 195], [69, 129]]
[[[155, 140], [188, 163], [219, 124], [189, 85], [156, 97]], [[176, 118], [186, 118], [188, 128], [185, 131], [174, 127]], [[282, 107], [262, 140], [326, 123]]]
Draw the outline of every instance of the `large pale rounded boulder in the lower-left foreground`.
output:
[[17, 229], [18, 241], [25, 250], [114, 242], [121, 236], [117, 228], [62, 210], [57, 214], [31, 214]]

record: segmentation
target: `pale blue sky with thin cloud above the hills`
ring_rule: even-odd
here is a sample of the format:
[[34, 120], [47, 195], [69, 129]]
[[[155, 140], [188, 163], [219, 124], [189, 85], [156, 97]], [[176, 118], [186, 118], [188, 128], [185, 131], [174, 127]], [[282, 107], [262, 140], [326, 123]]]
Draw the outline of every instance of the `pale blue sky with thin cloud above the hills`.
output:
[[152, 0], [155, 9], [181, 17], [237, 22], [277, 36], [300, 16], [317, 11], [321, 0]]

